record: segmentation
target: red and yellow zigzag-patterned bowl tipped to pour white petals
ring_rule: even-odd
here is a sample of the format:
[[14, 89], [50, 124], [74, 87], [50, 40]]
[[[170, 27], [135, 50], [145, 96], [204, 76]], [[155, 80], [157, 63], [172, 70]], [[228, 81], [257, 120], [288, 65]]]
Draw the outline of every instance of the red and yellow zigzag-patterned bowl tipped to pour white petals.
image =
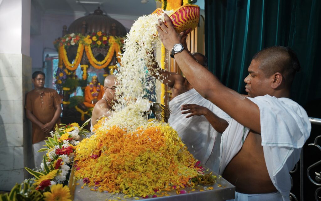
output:
[[[158, 8], [153, 13], [161, 15], [163, 10]], [[185, 34], [188, 34], [194, 30], [198, 24], [200, 19], [200, 7], [198, 5], [182, 5], [170, 14], [169, 18], [172, 20], [177, 33], [185, 31]]]

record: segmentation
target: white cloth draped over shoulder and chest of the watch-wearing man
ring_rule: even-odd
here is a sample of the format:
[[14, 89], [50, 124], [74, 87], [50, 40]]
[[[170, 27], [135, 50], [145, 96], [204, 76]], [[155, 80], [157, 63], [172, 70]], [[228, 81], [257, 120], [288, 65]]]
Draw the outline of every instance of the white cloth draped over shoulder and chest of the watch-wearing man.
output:
[[[289, 172], [299, 161], [301, 148], [311, 132], [308, 115], [298, 103], [288, 98], [265, 95], [249, 99], [260, 109], [262, 146], [270, 179], [282, 199], [289, 200]], [[248, 132], [248, 128], [231, 119], [221, 138], [219, 174], [239, 152]]]

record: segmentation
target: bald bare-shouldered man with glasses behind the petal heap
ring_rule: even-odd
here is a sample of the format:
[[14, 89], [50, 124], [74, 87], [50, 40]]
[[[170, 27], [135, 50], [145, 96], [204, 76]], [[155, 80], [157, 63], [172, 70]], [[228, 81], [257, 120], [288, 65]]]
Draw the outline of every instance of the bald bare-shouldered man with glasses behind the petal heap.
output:
[[114, 75], [109, 75], [104, 80], [104, 95], [101, 100], [99, 100], [94, 109], [92, 110], [91, 116], [91, 126], [90, 130], [92, 132], [93, 126], [97, 121], [102, 117], [110, 116], [110, 110], [113, 106], [115, 99], [115, 90], [116, 90], [116, 77]]

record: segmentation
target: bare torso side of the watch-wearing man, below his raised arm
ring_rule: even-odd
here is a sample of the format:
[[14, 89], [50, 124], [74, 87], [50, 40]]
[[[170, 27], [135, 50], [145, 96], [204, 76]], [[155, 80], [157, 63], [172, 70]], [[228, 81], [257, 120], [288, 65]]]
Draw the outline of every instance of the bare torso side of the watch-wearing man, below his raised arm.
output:
[[267, 171], [260, 134], [252, 130], [244, 144], [226, 166], [223, 178], [235, 185], [240, 193], [256, 194], [277, 191]]

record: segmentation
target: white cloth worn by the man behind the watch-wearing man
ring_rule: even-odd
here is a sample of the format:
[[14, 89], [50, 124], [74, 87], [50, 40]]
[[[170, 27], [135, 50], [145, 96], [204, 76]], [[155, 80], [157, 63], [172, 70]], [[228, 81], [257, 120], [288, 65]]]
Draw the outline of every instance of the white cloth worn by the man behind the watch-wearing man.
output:
[[197, 104], [208, 108], [215, 115], [228, 122], [230, 121], [230, 116], [209, 100], [204, 99], [195, 89], [182, 93], [169, 101], [169, 109], [172, 111], [168, 120], [169, 125], [177, 131], [178, 136], [186, 144], [188, 151], [197, 160], [217, 172], [220, 164], [221, 134], [214, 130], [204, 116], [186, 118], [188, 114], [182, 114], [180, 110], [181, 105], [184, 104]]

